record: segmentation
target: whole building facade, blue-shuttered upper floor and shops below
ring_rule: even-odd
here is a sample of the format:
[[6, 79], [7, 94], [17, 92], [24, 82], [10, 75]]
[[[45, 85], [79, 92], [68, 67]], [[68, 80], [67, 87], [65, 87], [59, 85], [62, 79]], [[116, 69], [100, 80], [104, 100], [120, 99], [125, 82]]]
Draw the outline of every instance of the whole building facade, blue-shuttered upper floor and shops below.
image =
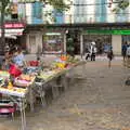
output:
[[66, 0], [66, 3], [70, 9], [60, 13], [51, 5], [36, 0], [12, 0], [13, 11], [5, 20], [26, 23], [21, 42], [26, 43], [29, 53], [39, 50], [46, 53], [66, 52], [69, 35], [75, 48], [80, 49], [80, 54], [93, 40], [99, 53], [103, 52], [106, 44], [112, 44], [114, 53], [121, 54], [121, 44], [130, 42], [130, 30], [127, 27], [130, 23], [130, 8], [116, 14], [113, 12], [116, 3], [112, 4], [112, 0]]

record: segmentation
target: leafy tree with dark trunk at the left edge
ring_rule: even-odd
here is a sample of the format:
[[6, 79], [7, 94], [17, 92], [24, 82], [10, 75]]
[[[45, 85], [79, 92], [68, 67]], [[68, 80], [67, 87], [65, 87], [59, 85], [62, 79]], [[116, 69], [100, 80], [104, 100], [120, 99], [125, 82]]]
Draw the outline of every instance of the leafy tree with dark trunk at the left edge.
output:
[[[63, 12], [67, 10], [69, 6], [64, 2], [64, 0], [18, 0], [18, 2], [43, 2], [53, 5], [58, 12]], [[3, 48], [5, 46], [5, 37], [4, 37], [4, 16], [10, 12], [10, 0], [0, 0], [0, 11], [1, 11], [1, 44], [0, 44], [0, 54], [3, 52]]]

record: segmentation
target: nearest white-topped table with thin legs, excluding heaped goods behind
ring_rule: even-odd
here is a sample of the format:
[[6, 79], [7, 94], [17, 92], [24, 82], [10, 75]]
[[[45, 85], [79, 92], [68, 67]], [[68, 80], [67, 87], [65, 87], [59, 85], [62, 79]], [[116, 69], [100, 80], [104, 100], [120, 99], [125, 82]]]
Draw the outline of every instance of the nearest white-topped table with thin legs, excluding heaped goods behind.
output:
[[11, 101], [17, 104], [20, 107], [21, 112], [21, 117], [22, 117], [22, 130], [25, 130], [26, 128], [26, 116], [25, 116], [25, 105], [26, 105], [26, 95], [29, 93], [29, 103], [30, 103], [30, 108], [32, 110], [34, 104], [32, 104], [32, 92], [31, 92], [31, 86], [34, 84], [35, 77], [34, 79], [28, 83], [26, 88], [2, 88], [0, 87], [0, 93], [6, 95]]

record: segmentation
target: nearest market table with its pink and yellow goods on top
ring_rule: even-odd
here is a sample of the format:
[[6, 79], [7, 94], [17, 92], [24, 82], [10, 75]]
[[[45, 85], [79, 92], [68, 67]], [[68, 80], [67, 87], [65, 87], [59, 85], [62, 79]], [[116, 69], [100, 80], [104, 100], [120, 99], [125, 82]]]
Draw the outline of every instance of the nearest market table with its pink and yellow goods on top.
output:
[[[28, 79], [27, 79], [28, 78]], [[25, 118], [25, 107], [26, 107], [26, 95], [29, 93], [31, 96], [31, 86], [35, 81], [35, 77], [27, 77], [25, 75], [21, 75], [18, 78], [14, 79], [14, 84], [11, 81], [10, 74], [8, 72], [0, 72], [0, 93], [4, 95], [4, 98], [13, 101], [17, 108], [21, 112], [22, 116], [22, 130], [25, 130], [26, 127], [26, 118]], [[32, 107], [32, 102], [30, 98], [30, 105]]]

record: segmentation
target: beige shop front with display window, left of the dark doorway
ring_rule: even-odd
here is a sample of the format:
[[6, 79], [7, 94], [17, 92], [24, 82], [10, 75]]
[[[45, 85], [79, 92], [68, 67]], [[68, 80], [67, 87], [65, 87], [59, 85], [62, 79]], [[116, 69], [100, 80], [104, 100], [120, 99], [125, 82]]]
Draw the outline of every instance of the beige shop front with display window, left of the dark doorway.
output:
[[26, 36], [28, 53], [57, 54], [65, 51], [65, 35], [63, 31], [29, 30]]

